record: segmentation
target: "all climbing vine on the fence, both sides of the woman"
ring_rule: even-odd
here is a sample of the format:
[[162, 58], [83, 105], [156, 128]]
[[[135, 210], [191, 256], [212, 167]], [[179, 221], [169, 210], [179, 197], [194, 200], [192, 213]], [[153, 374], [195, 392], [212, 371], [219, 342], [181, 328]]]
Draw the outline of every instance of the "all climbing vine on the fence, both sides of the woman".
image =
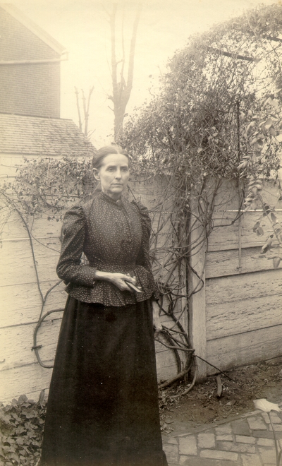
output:
[[[142, 186], [152, 216], [152, 265], [163, 295], [160, 311], [171, 322], [158, 339], [173, 351], [176, 378], [188, 380], [194, 366], [190, 388], [197, 355], [183, 321], [190, 298], [204, 285], [205, 265], [199, 270], [193, 259], [207, 251], [214, 211], [228, 202], [226, 179], [235, 179], [240, 196], [230, 222], [248, 209], [261, 208], [274, 230], [262, 253], [272, 254], [274, 267], [282, 259], [282, 228], [275, 206], [264, 201], [266, 181], [280, 189], [281, 26], [282, 6], [262, 6], [190, 38], [168, 61], [159, 90], [135, 109], [118, 141], [131, 157], [128, 196], [138, 197]], [[31, 247], [37, 217], [61, 221], [69, 205], [87, 200], [96, 190], [90, 163], [72, 157], [25, 159], [15, 182], [2, 186], [2, 212], [6, 217], [18, 213], [30, 232]], [[224, 193], [221, 205], [219, 190]], [[254, 234], [264, 234], [260, 221]], [[40, 289], [39, 277], [37, 284]], [[49, 292], [40, 290], [39, 323]], [[39, 357], [36, 340], [33, 347]]]

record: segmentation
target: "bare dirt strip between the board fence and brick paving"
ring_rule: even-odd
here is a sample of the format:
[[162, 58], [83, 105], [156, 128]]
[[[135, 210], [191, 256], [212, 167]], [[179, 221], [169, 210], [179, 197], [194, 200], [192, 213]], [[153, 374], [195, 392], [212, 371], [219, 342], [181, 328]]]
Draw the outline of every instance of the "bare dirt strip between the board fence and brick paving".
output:
[[282, 402], [282, 357], [240, 367], [226, 374], [232, 381], [220, 374], [220, 397], [216, 376], [197, 383], [187, 395], [181, 396], [188, 387], [184, 384], [161, 392], [162, 431], [171, 435], [183, 434], [202, 424], [234, 419], [254, 411], [253, 400], [258, 398]]

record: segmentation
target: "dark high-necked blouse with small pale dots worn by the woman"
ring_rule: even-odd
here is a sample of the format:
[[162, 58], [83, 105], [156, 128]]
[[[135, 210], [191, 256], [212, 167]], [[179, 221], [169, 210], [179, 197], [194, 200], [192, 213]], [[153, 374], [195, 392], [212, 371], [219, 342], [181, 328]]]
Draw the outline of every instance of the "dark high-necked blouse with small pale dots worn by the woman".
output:
[[[158, 299], [159, 292], [149, 261], [151, 221], [144, 205], [114, 201], [100, 193], [84, 205], [68, 210], [63, 220], [59, 277], [66, 292], [87, 303], [125, 306]], [[81, 257], [85, 253], [88, 264]], [[135, 275], [142, 293], [121, 291], [110, 282], [94, 280], [94, 269]]]

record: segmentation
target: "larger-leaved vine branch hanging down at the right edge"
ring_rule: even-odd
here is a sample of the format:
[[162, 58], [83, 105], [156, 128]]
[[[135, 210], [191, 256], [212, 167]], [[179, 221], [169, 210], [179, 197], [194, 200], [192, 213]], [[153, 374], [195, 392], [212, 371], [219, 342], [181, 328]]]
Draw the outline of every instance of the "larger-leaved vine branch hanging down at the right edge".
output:
[[272, 232], [262, 246], [261, 253], [272, 259], [274, 268], [282, 260], [282, 226], [277, 220], [275, 205], [264, 200], [264, 181], [271, 177], [278, 188], [277, 202], [282, 201], [282, 186], [278, 176], [281, 166], [281, 90], [274, 95], [264, 97], [252, 120], [245, 129], [244, 136], [250, 140], [250, 149], [238, 165], [240, 177], [248, 180], [244, 208], [259, 210], [259, 219], [253, 226], [258, 237], [264, 237], [262, 221], [266, 219]]

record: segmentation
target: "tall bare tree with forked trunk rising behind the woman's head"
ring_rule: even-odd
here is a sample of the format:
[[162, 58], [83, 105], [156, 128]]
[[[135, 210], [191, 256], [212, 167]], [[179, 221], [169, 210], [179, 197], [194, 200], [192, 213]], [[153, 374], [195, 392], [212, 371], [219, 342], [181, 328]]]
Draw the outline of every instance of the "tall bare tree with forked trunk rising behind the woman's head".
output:
[[[134, 58], [135, 58], [135, 44], [137, 37], [137, 28], [140, 20], [140, 14], [142, 10], [142, 4], [137, 4], [137, 10], [135, 14], [135, 20], [133, 23], [133, 32], [130, 40], [130, 50], [128, 56], [128, 71], [125, 79], [125, 44], [123, 35], [123, 23], [124, 23], [124, 9], [123, 18], [121, 25], [121, 47], [122, 47], [122, 58], [117, 61], [116, 59], [116, 13], [117, 4], [113, 4], [111, 13], [106, 11], [109, 16], [109, 24], [111, 28], [111, 80], [113, 85], [113, 95], [109, 96], [109, 99], [114, 103], [114, 136], [115, 140], [121, 134], [123, 129], [123, 119], [125, 115], [125, 108], [130, 98], [130, 93], [133, 88], [133, 71], [134, 71]], [[120, 76], [118, 78], [118, 65], [121, 66]]]

